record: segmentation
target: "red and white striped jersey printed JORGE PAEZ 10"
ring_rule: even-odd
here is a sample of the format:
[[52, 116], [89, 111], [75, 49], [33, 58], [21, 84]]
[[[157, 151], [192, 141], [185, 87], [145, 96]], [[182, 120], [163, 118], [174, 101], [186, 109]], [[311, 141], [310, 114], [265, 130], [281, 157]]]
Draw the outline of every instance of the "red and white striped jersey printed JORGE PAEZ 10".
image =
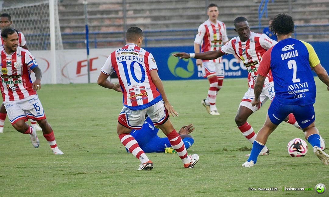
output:
[[116, 73], [123, 91], [123, 105], [131, 110], [142, 110], [162, 100], [152, 82], [151, 70], [158, 70], [153, 55], [133, 43], [112, 52], [101, 68], [106, 75]]

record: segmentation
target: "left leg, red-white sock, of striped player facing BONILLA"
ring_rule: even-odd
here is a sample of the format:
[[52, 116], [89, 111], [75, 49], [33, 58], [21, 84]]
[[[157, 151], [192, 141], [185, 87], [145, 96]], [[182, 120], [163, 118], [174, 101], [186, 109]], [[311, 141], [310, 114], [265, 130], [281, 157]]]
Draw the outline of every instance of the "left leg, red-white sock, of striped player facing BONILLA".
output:
[[[252, 126], [247, 122], [247, 119], [253, 113], [254, 112], [251, 109], [240, 105], [237, 115], [234, 118], [235, 123], [237, 124], [238, 129], [241, 131], [242, 135], [247, 138], [251, 143], [254, 143], [254, 140], [256, 139], [257, 135], [255, 134]], [[264, 149], [260, 152], [260, 155], [268, 154], [269, 150], [265, 146]]]

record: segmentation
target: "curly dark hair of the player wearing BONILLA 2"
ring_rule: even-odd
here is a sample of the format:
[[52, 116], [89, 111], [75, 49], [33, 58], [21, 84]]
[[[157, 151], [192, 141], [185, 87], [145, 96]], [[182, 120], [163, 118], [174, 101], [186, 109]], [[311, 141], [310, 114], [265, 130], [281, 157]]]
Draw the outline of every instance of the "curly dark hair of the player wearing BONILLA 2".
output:
[[278, 14], [274, 16], [271, 25], [269, 26], [269, 30], [273, 33], [277, 33], [278, 35], [287, 35], [294, 31], [295, 23], [293, 19], [288, 14]]

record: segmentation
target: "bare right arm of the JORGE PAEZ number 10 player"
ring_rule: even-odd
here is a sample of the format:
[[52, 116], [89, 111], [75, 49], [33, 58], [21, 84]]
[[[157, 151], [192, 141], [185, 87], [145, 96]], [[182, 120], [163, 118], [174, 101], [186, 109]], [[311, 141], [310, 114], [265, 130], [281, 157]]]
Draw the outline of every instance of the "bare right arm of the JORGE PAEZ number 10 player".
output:
[[150, 75], [152, 78], [152, 81], [154, 85], [158, 88], [159, 92], [162, 95], [162, 100], [164, 101], [164, 107], [168, 110], [169, 115], [171, 114], [173, 117], [178, 116], [178, 113], [174, 110], [174, 108], [170, 105], [168, 98], [164, 92], [164, 86], [162, 84], [162, 81], [158, 75], [158, 71], [156, 69], [153, 69], [150, 71]]

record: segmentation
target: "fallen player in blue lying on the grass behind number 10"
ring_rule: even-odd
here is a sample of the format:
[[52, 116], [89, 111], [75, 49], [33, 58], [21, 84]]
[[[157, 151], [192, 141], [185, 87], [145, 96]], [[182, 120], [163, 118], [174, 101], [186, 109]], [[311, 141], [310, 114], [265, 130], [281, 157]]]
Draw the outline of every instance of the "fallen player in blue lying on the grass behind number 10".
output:
[[[193, 143], [194, 138], [189, 135], [193, 132], [194, 128], [192, 124], [183, 126], [178, 134], [181, 136], [185, 148], [188, 149]], [[139, 147], [145, 153], [176, 153], [174, 149], [171, 148], [168, 137], [159, 137], [157, 135], [159, 129], [156, 128], [149, 117], [144, 121], [143, 127], [139, 130], [132, 130], [130, 135], [132, 135], [139, 144]], [[126, 148], [129, 153], [128, 149]]]

